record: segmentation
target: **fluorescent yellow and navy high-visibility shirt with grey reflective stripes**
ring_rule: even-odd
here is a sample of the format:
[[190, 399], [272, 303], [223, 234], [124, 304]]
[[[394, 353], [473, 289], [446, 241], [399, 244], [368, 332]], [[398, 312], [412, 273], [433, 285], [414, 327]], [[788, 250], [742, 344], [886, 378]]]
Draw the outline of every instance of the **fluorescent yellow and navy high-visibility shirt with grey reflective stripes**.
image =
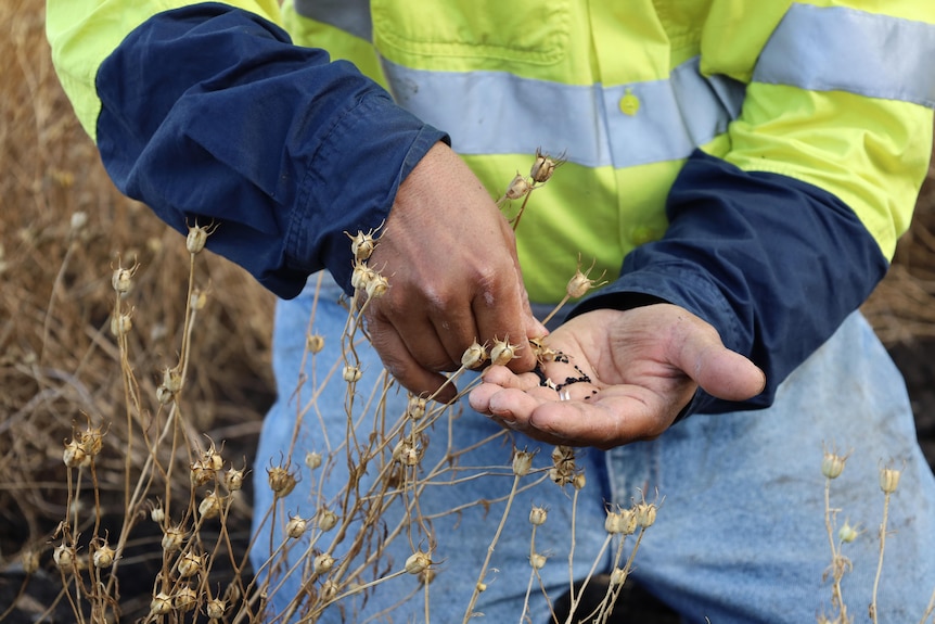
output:
[[690, 309], [766, 370], [751, 405], [884, 275], [932, 145], [931, 0], [49, 0], [48, 34], [117, 186], [221, 222], [282, 296], [349, 283], [344, 232], [434, 142], [491, 195], [563, 155], [517, 231], [530, 298], [593, 259], [576, 311]]

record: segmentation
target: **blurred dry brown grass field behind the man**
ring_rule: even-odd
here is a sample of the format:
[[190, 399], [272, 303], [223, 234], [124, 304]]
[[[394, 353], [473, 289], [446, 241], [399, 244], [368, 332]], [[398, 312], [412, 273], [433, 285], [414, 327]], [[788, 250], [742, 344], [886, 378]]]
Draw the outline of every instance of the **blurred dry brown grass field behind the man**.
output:
[[[86, 415], [111, 423], [104, 445], [119, 475], [123, 384], [114, 339], [112, 268], [139, 263], [129, 301], [132, 366], [144, 395], [178, 356], [189, 256], [145, 206], [121, 198], [55, 80], [42, 0], [0, 3], [0, 614], [21, 586], [24, 547], [44, 546], [65, 506], [63, 441]], [[204, 257], [208, 256], [208, 257]], [[272, 400], [273, 297], [238, 267], [200, 257], [206, 289], [192, 342], [188, 412], [200, 431], [246, 457]], [[886, 280], [864, 306], [904, 370], [919, 434], [935, 458], [935, 167]], [[143, 458], [141, 457], [140, 460]], [[103, 461], [106, 461], [103, 460]], [[104, 466], [106, 468], [106, 466]], [[261, 468], [260, 468], [261, 469]], [[105, 473], [105, 471], [102, 471]], [[102, 484], [120, 509], [121, 482]], [[238, 530], [245, 535], [244, 523]], [[146, 539], [137, 545], [146, 564]], [[152, 549], [158, 557], [157, 548]], [[50, 553], [43, 555], [48, 569]], [[126, 565], [125, 571], [131, 571]], [[18, 609], [40, 613], [57, 578], [38, 575]], [[132, 585], [125, 583], [127, 593]], [[144, 588], [140, 588], [144, 589]], [[46, 594], [43, 594], [43, 591]], [[149, 597], [142, 595], [140, 600]], [[31, 607], [30, 607], [31, 606]], [[67, 612], [67, 611], [66, 611]], [[11, 613], [11, 619], [15, 615]]]

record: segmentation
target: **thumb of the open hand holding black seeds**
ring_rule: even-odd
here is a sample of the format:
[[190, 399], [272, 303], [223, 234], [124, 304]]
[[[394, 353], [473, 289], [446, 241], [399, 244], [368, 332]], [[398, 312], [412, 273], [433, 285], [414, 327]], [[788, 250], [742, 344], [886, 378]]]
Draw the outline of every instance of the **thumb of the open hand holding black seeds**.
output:
[[746, 357], [727, 348], [717, 331], [704, 324], [682, 342], [677, 355], [679, 368], [717, 398], [746, 400], [761, 393], [766, 373]]

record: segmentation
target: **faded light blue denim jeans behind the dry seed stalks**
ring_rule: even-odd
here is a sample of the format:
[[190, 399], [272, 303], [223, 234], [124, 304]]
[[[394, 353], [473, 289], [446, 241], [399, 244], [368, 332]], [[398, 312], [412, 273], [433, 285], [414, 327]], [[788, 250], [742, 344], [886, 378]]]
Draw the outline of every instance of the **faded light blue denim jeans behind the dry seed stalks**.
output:
[[[283, 542], [286, 514], [309, 518], [322, 502], [340, 511], [338, 496], [349, 480], [347, 453], [341, 448], [349, 431], [347, 383], [341, 378], [340, 365], [321, 387], [332, 365], [341, 360], [340, 341], [347, 313], [336, 303], [340, 290], [328, 276], [315, 306], [315, 278], [309, 284], [298, 298], [281, 302], [277, 311], [273, 366], [279, 400], [264, 423], [254, 471], [255, 525], [264, 535], [253, 551], [257, 568], [269, 558], [270, 545], [276, 548]], [[325, 339], [324, 349], [313, 358], [305, 348], [309, 330]], [[350, 410], [357, 419], [354, 435], [360, 436], [373, 430], [375, 419], [388, 422], [404, 413], [407, 396], [394, 386], [383, 397], [384, 411], [377, 413], [373, 408], [376, 402], [368, 400], [372, 389], [379, 386], [382, 367], [363, 341], [356, 348], [362, 377]], [[304, 380], [302, 384], [299, 380]], [[462, 378], [459, 385], [466, 382], [467, 378]], [[310, 404], [315, 384], [321, 387], [315, 407], [304, 409]], [[297, 415], [303, 411], [294, 436]], [[439, 420], [420, 442], [424, 455], [419, 466], [423, 471], [436, 466], [461, 470], [443, 470], [438, 479], [447, 483], [422, 491], [419, 511], [427, 520], [402, 530], [381, 559], [384, 569], [380, 571], [384, 576], [399, 571], [414, 549], [431, 547], [436, 563], [434, 580], [427, 586], [428, 604], [431, 620], [439, 623], [459, 622], [465, 613], [503, 514], [502, 499], [513, 485], [512, 446], [538, 449], [535, 468], [551, 466], [551, 447], [513, 432], [500, 433], [497, 424], [473, 412], [466, 400], [450, 412], [454, 416]], [[492, 441], [475, 445], [497, 433], [500, 435]], [[643, 495], [653, 500], [658, 494], [662, 505], [655, 524], [640, 543], [632, 574], [684, 621], [800, 624], [815, 622], [819, 614], [831, 615], [832, 590], [827, 574], [831, 547], [824, 524], [825, 480], [820, 469], [825, 446], [849, 453], [843, 474], [831, 483], [831, 506], [840, 510], [834, 514], [835, 526], [847, 520], [862, 530], [855, 542], [842, 547], [853, 563], [842, 582], [848, 613], [855, 622], [869, 621], [883, 514], [879, 469], [892, 466], [902, 474], [889, 506], [879, 612], [881, 621], [918, 622], [935, 589], [935, 480], [917, 443], [902, 379], [857, 313], [782, 384], [769, 409], [695, 415], [653, 442], [606, 453], [579, 450], [577, 466], [587, 484], [578, 493], [574, 518], [575, 491], [571, 485], [560, 487], [545, 479], [523, 489], [543, 473], [523, 477], [492, 549], [484, 576], [486, 590], [474, 611], [483, 613], [487, 622], [521, 622], [531, 574], [531, 506], [548, 509], [547, 522], [536, 531], [535, 549], [548, 556], [539, 575], [541, 586], [554, 600], [569, 586], [573, 521], [573, 575], [587, 576], [595, 562], [598, 572], [607, 572], [613, 555], [613, 547], [602, 550], [607, 508], [629, 507]], [[446, 463], [450, 454], [465, 448], [470, 450]], [[272, 504], [267, 469], [281, 463], [290, 449], [299, 483], [280, 501], [270, 539], [270, 519], [260, 526]], [[307, 451], [328, 458], [329, 449], [333, 461], [325, 464], [328, 470], [322, 467], [312, 473], [303, 462]], [[376, 469], [357, 476], [360, 489], [381, 477]], [[377, 533], [385, 535], [407, 525], [400, 519], [414, 513], [401, 512], [406, 501], [411, 498], [397, 497]], [[476, 501], [484, 504], [469, 505]], [[443, 513], [458, 506], [463, 506], [458, 513]], [[333, 550], [338, 562], [346, 555], [342, 548], [353, 542], [359, 527], [359, 523], [350, 525]], [[310, 534], [313, 532], [306, 536]], [[324, 537], [320, 546], [331, 543], [329, 534]], [[625, 553], [632, 543], [632, 537], [624, 543]], [[302, 548], [296, 546], [291, 552], [297, 555]], [[272, 585], [279, 583], [282, 569], [273, 573]], [[267, 570], [264, 568], [261, 575]], [[300, 591], [300, 576], [289, 576], [272, 595], [272, 612], [281, 613]], [[381, 614], [410, 594], [411, 599], [392, 614]], [[326, 611], [320, 621], [361, 622], [374, 614], [380, 614], [377, 621], [423, 621], [425, 594], [415, 575], [404, 573], [373, 587], [366, 600], [358, 595], [342, 601], [343, 608]], [[529, 596], [525, 621], [545, 624], [549, 607], [539, 580]]]

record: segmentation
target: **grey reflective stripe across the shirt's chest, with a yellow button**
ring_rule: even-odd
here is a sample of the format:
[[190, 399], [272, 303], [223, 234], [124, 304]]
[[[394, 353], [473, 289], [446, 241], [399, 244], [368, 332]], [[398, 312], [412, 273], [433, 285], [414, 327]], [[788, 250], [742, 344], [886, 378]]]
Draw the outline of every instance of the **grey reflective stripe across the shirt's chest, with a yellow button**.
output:
[[[631, 167], [684, 158], [727, 130], [745, 87], [704, 77], [699, 60], [667, 80], [619, 87], [575, 86], [501, 72], [428, 72], [384, 60], [393, 95], [447, 131], [462, 154], [522, 154], [537, 147], [588, 167]], [[620, 111], [628, 93], [635, 115]]]

